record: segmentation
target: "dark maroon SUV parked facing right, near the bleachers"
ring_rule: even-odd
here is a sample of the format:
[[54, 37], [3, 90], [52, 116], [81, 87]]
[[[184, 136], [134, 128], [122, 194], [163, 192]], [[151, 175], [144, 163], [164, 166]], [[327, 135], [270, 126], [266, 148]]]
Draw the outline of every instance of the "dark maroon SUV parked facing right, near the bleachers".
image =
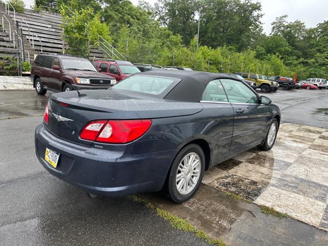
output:
[[99, 73], [90, 60], [61, 54], [36, 56], [31, 81], [39, 95], [46, 94], [47, 90], [107, 89], [116, 84], [114, 77]]

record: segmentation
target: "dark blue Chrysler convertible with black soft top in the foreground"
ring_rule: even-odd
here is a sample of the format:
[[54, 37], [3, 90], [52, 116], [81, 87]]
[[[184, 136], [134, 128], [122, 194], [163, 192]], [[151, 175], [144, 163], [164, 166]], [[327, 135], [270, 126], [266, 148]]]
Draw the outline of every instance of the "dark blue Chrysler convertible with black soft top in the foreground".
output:
[[35, 151], [52, 175], [89, 193], [163, 189], [180, 203], [211, 166], [270, 150], [279, 122], [279, 108], [236, 77], [154, 70], [109, 90], [52, 94]]

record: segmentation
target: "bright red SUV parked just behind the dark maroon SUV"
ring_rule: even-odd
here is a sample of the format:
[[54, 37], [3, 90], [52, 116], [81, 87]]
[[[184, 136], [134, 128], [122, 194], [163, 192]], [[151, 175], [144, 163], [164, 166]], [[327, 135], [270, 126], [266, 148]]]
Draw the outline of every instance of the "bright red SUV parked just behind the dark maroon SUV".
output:
[[94, 60], [92, 64], [100, 69], [101, 73], [114, 77], [117, 82], [140, 72], [136, 66], [126, 60]]

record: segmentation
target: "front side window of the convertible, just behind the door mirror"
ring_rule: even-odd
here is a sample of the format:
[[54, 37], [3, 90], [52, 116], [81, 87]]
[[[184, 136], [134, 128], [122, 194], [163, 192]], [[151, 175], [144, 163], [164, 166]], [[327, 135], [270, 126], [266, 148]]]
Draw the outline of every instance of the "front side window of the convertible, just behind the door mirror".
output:
[[256, 94], [247, 86], [233, 79], [221, 79], [230, 103], [257, 104]]

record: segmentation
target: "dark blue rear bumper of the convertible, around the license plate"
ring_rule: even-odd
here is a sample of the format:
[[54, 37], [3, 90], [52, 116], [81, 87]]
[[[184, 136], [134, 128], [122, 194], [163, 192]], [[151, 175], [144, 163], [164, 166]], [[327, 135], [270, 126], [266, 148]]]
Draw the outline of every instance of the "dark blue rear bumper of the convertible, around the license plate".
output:
[[[35, 153], [53, 176], [101, 196], [126, 196], [162, 189], [174, 158], [173, 151], [132, 155], [132, 144], [114, 150], [81, 146], [50, 133], [43, 124], [35, 130]], [[46, 148], [60, 153], [57, 168], [45, 161]]]

